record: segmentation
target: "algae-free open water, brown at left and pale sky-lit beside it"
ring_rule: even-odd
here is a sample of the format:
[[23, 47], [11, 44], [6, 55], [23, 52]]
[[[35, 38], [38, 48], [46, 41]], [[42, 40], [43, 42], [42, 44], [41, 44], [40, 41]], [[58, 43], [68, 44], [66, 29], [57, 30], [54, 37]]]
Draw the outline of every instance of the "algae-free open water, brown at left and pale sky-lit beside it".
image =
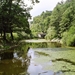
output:
[[[21, 52], [19, 52], [21, 53]], [[60, 75], [62, 72], [43, 70], [46, 65], [52, 66], [52, 61], [36, 64], [34, 59], [38, 58], [35, 50], [30, 48], [27, 58], [19, 56], [18, 52], [13, 53], [13, 59], [0, 61], [0, 75]]]

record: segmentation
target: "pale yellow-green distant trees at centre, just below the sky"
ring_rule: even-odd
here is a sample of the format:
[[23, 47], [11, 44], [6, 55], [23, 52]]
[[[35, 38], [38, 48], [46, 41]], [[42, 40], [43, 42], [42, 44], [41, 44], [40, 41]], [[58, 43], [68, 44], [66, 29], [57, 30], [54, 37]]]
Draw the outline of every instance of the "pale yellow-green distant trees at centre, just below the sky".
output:
[[31, 31], [33, 36], [37, 37], [37, 35], [41, 32], [46, 33], [49, 27], [51, 11], [42, 12], [41, 15], [33, 18], [33, 22], [31, 24]]

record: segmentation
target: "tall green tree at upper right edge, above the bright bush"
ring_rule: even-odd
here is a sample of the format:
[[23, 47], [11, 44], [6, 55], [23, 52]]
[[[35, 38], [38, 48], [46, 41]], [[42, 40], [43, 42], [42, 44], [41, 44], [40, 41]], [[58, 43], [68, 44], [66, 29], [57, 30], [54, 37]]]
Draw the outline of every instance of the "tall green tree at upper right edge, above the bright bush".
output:
[[62, 20], [60, 22], [60, 30], [61, 34], [72, 26], [72, 22], [75, 20], [75, 1], [74, 0], [67, 0], [64, 7], [65, 11], [62, 14]]

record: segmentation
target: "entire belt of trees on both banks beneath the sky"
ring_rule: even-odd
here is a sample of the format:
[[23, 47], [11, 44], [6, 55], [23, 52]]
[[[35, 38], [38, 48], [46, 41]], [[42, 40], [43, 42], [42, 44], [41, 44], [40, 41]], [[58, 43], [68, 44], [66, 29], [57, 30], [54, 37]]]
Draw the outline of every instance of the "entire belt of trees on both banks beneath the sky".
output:
[[[31, 4], [39, 3], [31, 0]], [[75, 46], [75, 0], [57, 3], [52, 11], [43, 11], [31, 19], [32, 7], [22, 0], [0, 1], [0, 42], [35, 39], [45, 34], [44, 39], [60, 39], [67, 46]]]

